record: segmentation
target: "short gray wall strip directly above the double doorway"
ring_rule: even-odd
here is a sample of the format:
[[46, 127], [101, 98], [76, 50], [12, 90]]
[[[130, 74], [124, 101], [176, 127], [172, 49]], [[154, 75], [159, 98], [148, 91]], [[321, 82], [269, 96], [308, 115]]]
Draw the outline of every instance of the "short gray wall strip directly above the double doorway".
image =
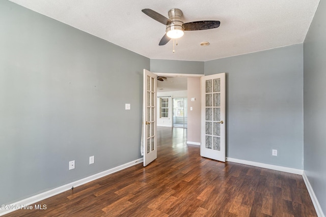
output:
[[176, 74], [204, 74], [204, 62], [151, 59], [151, 72]]

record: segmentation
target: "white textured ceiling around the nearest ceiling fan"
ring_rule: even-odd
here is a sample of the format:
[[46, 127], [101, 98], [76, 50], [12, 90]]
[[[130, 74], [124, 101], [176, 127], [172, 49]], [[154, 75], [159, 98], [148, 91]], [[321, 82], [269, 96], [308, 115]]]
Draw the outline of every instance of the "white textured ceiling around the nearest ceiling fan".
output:
[[[45, 16], [152, 59], [206, 61], [303, 43], [319, 0], [11, 0]], [[181, 9], [183, 21], [220, 20], [219, 28], [186, 31], [175, 53], [172, 40], [158, 42], [165, 25], [144, 13], [166, 17]], [[207, 47], [199, 44], [210, 43]]]

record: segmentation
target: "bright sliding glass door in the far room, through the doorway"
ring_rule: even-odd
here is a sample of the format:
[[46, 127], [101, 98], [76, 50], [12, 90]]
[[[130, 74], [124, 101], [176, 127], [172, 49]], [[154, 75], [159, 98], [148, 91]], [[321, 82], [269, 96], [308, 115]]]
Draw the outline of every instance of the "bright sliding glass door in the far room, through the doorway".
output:
[[187, 112], [187, 98], [173, 99], [173, 127], [187, 128], [188, 126], [188, 112]]

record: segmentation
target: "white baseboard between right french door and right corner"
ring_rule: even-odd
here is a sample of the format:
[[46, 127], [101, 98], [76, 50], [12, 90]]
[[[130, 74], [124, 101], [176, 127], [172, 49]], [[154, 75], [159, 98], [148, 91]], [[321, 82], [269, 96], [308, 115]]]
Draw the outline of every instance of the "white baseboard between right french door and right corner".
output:
[[266, 169], [278, 170], [278, 171], [294, 173], [294, 174], [298, 174], [298, 175], [302, 175], [304, 172], [303, 170], [299, 170], [299, 169], [275, 166], [275, 165], [271, 165], [271, 164], [263, 164], [263, 163], [258, 163], [258, 162], [254, 162], [254, 161], [246, 161], [246, 160], [240, 160], [240, 159], [235, 159], [235, 158], [226, 158], [226, 160], [230, 161], [230, 162], [234, 162], [234, 163], [246, 164], [246, 165], [251, 165], [251, 166], [255, 166], [255, 167], [262, 167], [262, 168], [266, 168]]

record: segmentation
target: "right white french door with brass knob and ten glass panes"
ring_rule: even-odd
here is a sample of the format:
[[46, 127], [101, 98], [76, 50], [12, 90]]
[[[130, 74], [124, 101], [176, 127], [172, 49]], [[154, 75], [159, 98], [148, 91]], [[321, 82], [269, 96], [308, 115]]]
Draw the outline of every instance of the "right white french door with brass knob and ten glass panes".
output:
[[225, 162], [225, 73], [201, 77], [200, 155]]

